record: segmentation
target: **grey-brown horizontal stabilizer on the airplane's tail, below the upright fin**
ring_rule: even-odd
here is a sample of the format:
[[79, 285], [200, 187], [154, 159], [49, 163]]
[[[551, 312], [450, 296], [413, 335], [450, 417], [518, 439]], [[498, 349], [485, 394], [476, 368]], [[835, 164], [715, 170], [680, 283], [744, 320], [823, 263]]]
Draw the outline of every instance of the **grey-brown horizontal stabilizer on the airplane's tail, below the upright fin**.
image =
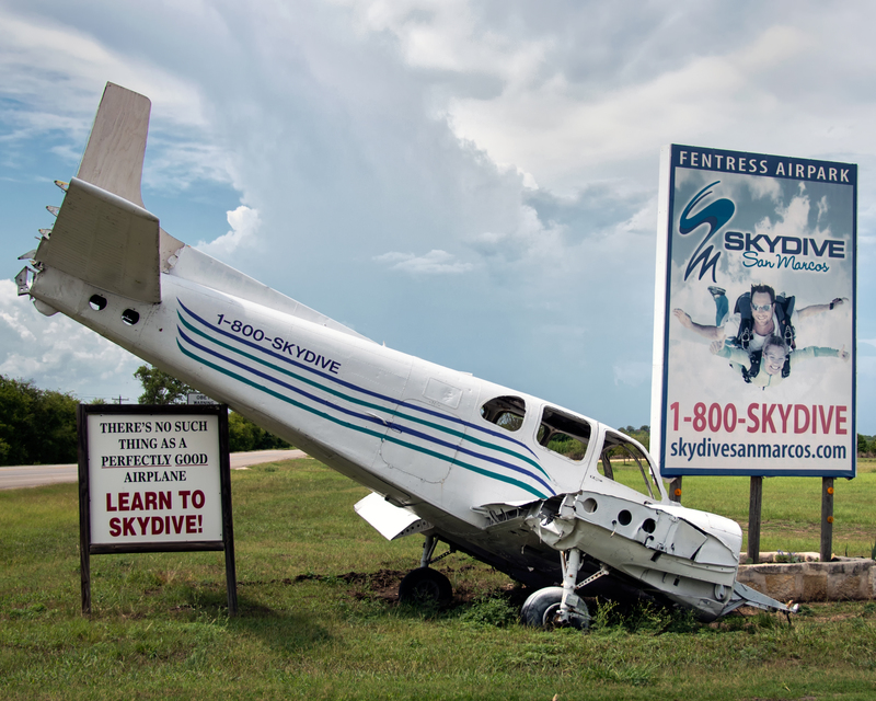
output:
[[108, 292], [161, 301], [158, 217], [77, 177], [35, 261]]

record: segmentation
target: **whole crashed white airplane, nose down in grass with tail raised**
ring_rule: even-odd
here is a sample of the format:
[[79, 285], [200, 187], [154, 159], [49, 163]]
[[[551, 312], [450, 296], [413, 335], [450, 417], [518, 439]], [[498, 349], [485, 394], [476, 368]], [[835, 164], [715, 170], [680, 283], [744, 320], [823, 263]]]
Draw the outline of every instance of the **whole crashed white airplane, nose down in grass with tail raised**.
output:
[[362, 518], [389, 539], [426, 539], [402, 598], [450, 598], [429, 567], [442, 541], [542, 587], [522, 610], [535, 625], [586, 628], [583, 597], [597, 594], [705, 621], [742, 605], [789, 610], [736, 582], [739, 526], [671, 502], [635, 440], [369, 341], [168, 234], [140, 195], [149, 112], [107, 84], [19, 292], [371, 490]]

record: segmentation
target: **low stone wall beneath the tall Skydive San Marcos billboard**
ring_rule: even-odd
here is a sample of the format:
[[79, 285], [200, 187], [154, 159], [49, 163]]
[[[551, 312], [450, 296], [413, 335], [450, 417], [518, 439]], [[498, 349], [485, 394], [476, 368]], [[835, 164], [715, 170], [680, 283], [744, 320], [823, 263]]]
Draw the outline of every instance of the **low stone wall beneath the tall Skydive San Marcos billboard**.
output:
[[779, 601], [876, 599], [876, 562], [863, 558], [740, 565], [737, 579]]

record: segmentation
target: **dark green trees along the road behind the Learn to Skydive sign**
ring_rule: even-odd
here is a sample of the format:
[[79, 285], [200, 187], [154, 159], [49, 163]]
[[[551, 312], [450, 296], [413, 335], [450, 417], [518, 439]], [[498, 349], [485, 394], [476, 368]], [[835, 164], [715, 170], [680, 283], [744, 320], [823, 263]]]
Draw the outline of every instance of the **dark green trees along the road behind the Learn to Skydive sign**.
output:
[[[183, 404], [192, 389], [158, 368], [141, 365], [134, 374], [143, 393], [139, 404]], [[104, 404], [99, 399], [92, 404]], [[76, 410], [69, 392], [43, 390], [32, 380], [0, 375], [0, 466], [66, 464], [77, 461]], [[283, 438], [237, 412], [228, 416], [232, 452], [291, 448]]]

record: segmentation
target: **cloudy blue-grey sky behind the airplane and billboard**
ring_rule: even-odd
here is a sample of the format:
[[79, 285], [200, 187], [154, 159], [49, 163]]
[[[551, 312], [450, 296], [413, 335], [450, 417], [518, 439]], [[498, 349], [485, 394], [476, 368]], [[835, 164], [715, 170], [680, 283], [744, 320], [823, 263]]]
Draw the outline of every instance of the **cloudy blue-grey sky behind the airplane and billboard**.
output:
[[873, 269], [874, 24], [800, 0], [0, 0], [0, 372], [139, 393], [137, 359], [11, 281], [112, 81], [152, 100], [143, 200], [176, 238], [394, 348], [650, 423], [660, 147], [857, 163]]

